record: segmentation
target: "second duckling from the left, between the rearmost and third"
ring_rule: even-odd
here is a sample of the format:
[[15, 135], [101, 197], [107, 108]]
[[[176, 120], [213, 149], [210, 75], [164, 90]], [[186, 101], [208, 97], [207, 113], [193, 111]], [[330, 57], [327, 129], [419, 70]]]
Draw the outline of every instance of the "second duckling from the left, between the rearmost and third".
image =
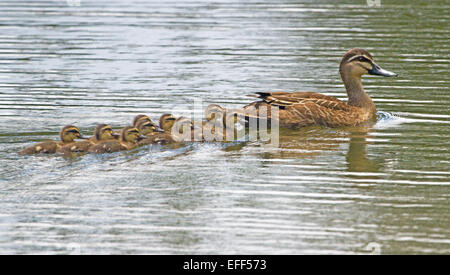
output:
[[113, 140], [117, 136], [120, 135], [114, 133], [111, 126], [108, 124], [99, 124], [95, 127], [93, 137], [85, 141], [78, 141], [65, 145], [59, 150], [59, 152], [63, 154], [87, 152], [91, 146], [102, 141]]

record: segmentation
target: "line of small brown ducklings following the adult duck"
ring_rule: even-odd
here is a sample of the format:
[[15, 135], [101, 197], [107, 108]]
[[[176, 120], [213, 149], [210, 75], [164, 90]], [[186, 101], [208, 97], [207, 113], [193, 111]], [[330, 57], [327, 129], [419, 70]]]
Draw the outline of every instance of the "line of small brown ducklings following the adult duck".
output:
[[[206, 109], [206, 122], [201, 123], [203, 129], [208, 129], [216, 135], [224, 135], [226, 129], [217, 131], [215, 128], [215, 118], [224, 119], [224, 109], [212, 104]], [[222, 113], [221, 116], [217, 116]], [[72, 153], [113, 153], [125, 150], [132, 150], [138, 146], [149, 144], [172, 144], [183, 141], [204, 140], [199, 137], [202, 131], [195, 131], [195, 123], [186, 117], [174, 117], [171, 114], [164, 114], [159, 119], [159, 127], [147, 115], [137, 115], [132, 122], [133, 126], [126, 126], [118, 132], [115, 132], [108, 124], [99, 124], [94, 130], [92, 137], [85, 137], [81, 131], [73, 125], [67, 125], [60, 131], [60, 141], [47, 140], [19, 152], [20, 155], [32, 154], [72, 154]], [[177, 125], [177, 131], [173, 131], [174, 125]], [[184, 127], [187, 126], [187, 127]], [[185, 129], [190, 131], [186, 137]], [[223, 131], [223, 132], [222, 132]], [[76, 141], [83, 139], [83, 141]], [[224, 139], [222, 139], [224, 140]]]

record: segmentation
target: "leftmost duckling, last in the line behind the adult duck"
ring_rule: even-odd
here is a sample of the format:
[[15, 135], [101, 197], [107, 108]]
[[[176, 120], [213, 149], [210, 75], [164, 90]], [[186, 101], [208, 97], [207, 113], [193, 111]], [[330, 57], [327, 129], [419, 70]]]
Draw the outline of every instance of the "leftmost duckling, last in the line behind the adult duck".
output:
[[73, 144], [75, 139], [86, 139], [86, 137], [81, 134], [80, 130], [73, 125], [64, 126], [59, 133], [59, 137], [61, 141], [43, 141], [31, 147], [25, 148], [24, 150], [20, 151], [19, 154], [54, 154], [63, 146]]

